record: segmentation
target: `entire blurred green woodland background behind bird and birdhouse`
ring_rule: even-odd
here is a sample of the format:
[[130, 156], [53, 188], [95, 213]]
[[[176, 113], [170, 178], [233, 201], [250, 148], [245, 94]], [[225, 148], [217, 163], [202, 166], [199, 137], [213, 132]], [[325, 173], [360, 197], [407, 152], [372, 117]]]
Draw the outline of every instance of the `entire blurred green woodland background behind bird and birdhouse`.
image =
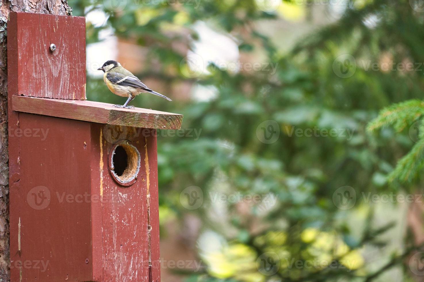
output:
[[162, 281], [424, 281], [423, 0], [69, 0], [159, 131]]

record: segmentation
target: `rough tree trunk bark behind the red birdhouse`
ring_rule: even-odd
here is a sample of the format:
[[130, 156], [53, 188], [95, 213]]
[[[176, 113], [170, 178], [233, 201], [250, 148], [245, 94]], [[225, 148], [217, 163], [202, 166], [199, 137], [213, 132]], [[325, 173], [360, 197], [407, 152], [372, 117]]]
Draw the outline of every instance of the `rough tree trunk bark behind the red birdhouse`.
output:
[[10, 11], [72, 15], [67, 0], [0, 0], [0, 282], [10, 281], [7, 19]]

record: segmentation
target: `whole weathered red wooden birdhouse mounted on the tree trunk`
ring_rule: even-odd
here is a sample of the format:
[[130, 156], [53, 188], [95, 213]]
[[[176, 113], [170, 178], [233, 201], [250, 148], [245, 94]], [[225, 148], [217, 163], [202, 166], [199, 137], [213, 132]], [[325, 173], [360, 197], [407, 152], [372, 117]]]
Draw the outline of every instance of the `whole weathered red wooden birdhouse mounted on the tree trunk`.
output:
[[11, 281], [160, 281], [156, 129], [86, 101], [85, 19], [10, 14]]

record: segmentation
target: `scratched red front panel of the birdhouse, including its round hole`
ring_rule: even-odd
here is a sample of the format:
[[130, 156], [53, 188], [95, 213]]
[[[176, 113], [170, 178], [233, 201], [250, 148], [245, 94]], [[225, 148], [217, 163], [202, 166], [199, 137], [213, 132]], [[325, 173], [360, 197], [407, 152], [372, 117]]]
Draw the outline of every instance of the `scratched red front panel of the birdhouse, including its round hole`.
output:
[[102, 199], [93, 206], [100, 281], [160, 281], [156, 130], [93, 124], [91, 147]]

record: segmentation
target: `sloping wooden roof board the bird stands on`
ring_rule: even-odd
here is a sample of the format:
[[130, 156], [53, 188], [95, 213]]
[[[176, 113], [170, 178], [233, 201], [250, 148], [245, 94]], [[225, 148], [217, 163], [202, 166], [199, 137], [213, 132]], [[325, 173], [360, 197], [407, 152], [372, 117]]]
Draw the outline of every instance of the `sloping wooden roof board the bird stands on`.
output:
[[180, 129], [183, 116], [148, 109], [122, 109], [112, 104], [13, 96], [13, 110], [44, 116], [70, 118], [101, 124], [116, 124], [153, 129]]

